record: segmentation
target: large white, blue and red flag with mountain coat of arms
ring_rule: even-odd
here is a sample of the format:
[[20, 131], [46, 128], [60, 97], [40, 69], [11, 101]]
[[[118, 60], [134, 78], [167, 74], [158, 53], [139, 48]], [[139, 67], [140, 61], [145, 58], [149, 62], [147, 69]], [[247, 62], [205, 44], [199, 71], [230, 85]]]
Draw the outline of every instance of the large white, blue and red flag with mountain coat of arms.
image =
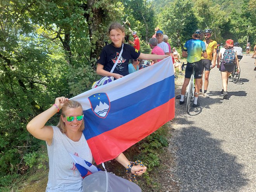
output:
[[87, 143], [96, 164], [117, 157], [174, 118], [171, 57], [81, 93]]

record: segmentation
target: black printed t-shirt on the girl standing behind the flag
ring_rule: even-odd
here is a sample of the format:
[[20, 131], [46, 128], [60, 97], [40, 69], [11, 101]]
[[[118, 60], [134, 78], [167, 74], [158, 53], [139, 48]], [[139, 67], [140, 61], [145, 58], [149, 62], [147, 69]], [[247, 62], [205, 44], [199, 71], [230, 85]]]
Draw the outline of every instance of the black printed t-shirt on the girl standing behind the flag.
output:
[[[110, 72], [116, 60], [118, 59], [121, 49], [122, 47], [116, 48], [112, 45], [112, 43], [103, 47], [97, 63], [102, 64], [104, 66], [103, 69]], [[140, 52], [137, 49], [131, 47], [128, 44], [124, 44], [123, 53], [113, 73], [121, 74], [123, 76], [128, 75], [129, 60], [137, 59], [139, 56]]]

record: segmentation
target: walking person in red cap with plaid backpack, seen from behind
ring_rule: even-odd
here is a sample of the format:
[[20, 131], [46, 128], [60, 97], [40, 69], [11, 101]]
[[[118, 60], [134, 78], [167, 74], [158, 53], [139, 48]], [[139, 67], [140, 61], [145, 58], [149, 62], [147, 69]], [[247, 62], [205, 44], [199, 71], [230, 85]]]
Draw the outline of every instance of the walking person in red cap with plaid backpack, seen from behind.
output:
[[[232, 59], [233, 54], [235, 54], [234, 59]], [[230, 63], [233, 62], [234, 64], [229, 64], [227, 61]], [[239, 73], [240, 67], [237, 59], [237, 50], [234, 49], [234, 41], [232, 39], [228, 39], [226, 41], [226, 45], [220, 49], [217, 59], [217, 67], [221, 71], [223, 99], [228, 99], [228, 76], [230, 76], [230, 74], [234, 71], [235, 64], [237, 65], [237, 73]]]

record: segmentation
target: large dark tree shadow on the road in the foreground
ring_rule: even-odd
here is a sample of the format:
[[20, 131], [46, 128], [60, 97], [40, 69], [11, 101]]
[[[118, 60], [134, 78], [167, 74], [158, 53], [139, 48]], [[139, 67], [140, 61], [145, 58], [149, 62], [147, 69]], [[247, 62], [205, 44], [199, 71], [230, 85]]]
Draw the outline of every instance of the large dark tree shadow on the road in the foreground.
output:
[[[187, 118], [178, 120], [191, 125]], [[176, 175], [182, 183], [181, 192], [237, 192], [248, 183], [243, 166], [236, 157], [221, 149], [223, 141], [211, 138], [198, 127], [182, 128], [173, 142], [177, 145]]]

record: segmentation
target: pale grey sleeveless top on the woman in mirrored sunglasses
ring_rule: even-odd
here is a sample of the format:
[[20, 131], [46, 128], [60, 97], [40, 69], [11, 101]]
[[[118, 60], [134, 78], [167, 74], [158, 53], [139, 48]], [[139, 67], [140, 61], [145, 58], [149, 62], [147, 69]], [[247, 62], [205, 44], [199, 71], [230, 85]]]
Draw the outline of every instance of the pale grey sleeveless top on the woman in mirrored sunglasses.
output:
[[68, 154], [74, 154], [92, 163], [92, 152], [85, 136], [78, 142], [69, 139], [60, 129], [52, 126], [54, 135], [52, 145], [47, 145], [49, 175], [46, 192], [82, 192], [83, 178]]

